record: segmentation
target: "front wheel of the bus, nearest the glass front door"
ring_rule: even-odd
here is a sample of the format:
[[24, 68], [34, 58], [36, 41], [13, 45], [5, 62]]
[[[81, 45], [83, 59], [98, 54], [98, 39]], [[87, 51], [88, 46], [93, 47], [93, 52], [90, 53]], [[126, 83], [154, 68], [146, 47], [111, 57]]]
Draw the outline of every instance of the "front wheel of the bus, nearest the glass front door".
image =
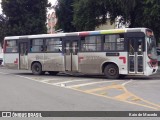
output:
[[104, 68], [104, 74], [108, 79], [119, 78], [119, 69], [115, 64], [109, 64]]

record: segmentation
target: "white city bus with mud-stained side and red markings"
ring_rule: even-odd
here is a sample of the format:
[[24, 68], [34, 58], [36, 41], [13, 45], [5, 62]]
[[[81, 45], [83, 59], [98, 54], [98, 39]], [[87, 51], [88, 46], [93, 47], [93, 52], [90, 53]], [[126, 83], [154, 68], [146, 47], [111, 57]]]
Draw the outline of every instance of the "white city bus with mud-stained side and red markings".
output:
[[5, 67], [35, 75], [73, 72], [117, 79], [158, 69], [156, 40], [148, 28], [8, 36], [3, 49]]

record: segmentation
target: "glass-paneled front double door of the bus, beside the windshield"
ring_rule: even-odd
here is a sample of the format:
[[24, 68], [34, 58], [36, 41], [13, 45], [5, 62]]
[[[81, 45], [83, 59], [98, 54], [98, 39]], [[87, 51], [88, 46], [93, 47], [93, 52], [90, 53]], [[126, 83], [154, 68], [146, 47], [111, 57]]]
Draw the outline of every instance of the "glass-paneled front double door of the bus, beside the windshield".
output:
[[129, 74], [144, 72], [144, 39], [143, 37], [128, 38], [128, 68]]

